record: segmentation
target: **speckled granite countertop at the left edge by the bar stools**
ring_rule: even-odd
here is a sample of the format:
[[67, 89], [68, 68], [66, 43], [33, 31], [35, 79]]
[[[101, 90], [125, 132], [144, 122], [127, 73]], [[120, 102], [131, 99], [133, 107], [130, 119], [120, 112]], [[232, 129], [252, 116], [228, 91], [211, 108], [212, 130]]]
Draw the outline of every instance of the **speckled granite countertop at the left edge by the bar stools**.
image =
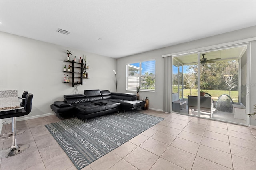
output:
[[0, 110], [18, 109], [20, 101], [18, 99], [17, 90], [1, 90], [0, 91]]

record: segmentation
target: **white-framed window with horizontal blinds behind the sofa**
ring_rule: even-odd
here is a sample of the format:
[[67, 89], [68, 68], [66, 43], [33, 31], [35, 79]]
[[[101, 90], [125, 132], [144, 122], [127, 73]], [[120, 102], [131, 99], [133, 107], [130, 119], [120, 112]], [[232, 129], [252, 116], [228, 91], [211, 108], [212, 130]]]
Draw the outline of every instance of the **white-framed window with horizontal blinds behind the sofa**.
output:
[[155, 91], [156, 61], [144, 61], [126, 65], [126, 90]]

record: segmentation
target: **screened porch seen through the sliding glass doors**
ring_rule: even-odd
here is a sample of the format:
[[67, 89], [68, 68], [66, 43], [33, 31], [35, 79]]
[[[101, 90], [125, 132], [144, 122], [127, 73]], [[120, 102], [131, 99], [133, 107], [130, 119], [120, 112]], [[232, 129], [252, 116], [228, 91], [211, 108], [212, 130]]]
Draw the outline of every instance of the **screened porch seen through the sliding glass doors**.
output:
[[172, 57], [172, 112], [246, 124], [246, 58], [246, 45]]

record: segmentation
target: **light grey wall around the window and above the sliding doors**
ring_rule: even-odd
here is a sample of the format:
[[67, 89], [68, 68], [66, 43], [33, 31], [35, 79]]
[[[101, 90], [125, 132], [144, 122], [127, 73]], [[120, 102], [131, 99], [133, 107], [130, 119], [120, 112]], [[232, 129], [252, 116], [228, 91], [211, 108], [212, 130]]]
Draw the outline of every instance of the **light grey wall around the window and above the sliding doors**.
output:
[[[150, 108], [156, 109], [156, 110], [163, 110], [163, 93], [164, 93], [163, 92], [163, 89], [164, 89], [164, 85], [163, 85], [164, 63], [163, 62], [164, 61], [163, 61], [162, 55], [166, 55], [170, 53], [178, 53], [182, 51], [197, 49], [201, 47], [208, 47], [211, 45], [218, 45], [222, 43], [234, 42], [234, 41], [243, 40], [243, 39], [252, 38], [252, 37], [256, 37], [256, 26], [117, 59], [118, 92], [136, 93], [135, 91], [126, 91], [125, 65], [127, 63], [135, 63], [138, 61], [143, 61], [148, 59], [156, 59], [156, 90], [155, 92], [140, 92], [140, 96], [142, 96], [143, 98], [145, 98], [146, 96], [149, 97]], [[254, 51], [255, 51], [255, 48], [256, 47], [252, 45], [252, 49], [254, 49]], [[254, 53], [252, 57], [254, 57], [255, 59], [255, 56], [256, 55]], [[255, 63], [255, 60], [252, 60], [252, 61]], [[252, 68], [252, 71], [253, 70], [255, 73], [256, 72], [255, 67]], [[255, 77], [252, 77], [252, 79], [255, 79]], [[255, 88], [256, 87], [251, 87], [251, 89], [255, 89]], [[254, 96], [255, 96], [255, 93], [254, 93]]]

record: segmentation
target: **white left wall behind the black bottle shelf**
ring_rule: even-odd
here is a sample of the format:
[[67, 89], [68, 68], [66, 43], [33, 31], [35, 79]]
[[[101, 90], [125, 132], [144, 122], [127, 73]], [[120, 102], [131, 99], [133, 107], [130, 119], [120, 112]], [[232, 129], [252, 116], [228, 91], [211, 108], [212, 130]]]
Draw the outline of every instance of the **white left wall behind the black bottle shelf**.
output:
[[34, 94], [32, 111], [24, 118], [52, 113], [50, 105], [54, 101], [63, 101], [63, 95], [75, 92], [71, 83], [62, 83], [64, 64], [68, 65], [63, 62], [67, 57], [67, 49], [72, 51], [70, 59], [87, 55], [86, 62], [90, 66], [90, 79], [83, 79], [85, 84], [78, 85], [79, 94], [84, 94], [84, 90], [88, 89], [115, 91], [113, 70], [116, 70], [116, 59], [0, 33], [0, 89], [17, 89], [20, 96], [23, 91]]

